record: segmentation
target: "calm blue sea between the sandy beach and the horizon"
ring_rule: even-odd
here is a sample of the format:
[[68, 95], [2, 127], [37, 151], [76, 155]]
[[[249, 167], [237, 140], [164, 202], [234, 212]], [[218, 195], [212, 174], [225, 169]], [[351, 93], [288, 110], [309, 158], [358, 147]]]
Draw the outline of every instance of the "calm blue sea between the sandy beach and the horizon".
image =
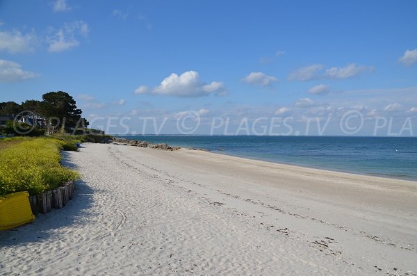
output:
[[120, 137], [311, 168], [417, 180], [417, 137]]

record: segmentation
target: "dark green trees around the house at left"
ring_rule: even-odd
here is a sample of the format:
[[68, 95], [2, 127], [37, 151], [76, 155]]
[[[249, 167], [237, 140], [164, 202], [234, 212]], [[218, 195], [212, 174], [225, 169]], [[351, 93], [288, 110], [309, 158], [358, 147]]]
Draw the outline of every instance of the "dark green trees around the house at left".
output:
[[[74, 98], [67, 92], [48, 92], [42, 95], [42, 101], [29, 99], [22, 104], [15, 102], [0, 102], [0, 115], [13, 116], [6, 129], [26, 129], [24, 123], [19, 122], [22, 117], [33, 122], [33, 130], [53, 133], [74, 133], [86, 129], [88, 121], [81, 116], [81, 109], [77, 108]], [[42, 122], [42, 124], [38, 124]], [[6, 131], [7, 132], [7, 131]]]

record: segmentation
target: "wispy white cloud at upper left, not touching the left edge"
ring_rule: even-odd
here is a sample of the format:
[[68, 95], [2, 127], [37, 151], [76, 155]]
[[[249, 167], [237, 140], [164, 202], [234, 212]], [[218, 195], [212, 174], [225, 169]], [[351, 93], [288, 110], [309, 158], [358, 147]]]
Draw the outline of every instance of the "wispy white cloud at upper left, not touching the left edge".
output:
[[[50, 31], [53, 30], [51, 29]], [[76, 47], [80, 44], [76, 40], [76, 35], [87, 37], [89, 31], [88, 24], [83, 21], [75, 21], [70, 24], [65, 23], [63, 28], [58, 29], [54, 35], [47, 38], [49, 42], [48, 51], [60, 52]]]

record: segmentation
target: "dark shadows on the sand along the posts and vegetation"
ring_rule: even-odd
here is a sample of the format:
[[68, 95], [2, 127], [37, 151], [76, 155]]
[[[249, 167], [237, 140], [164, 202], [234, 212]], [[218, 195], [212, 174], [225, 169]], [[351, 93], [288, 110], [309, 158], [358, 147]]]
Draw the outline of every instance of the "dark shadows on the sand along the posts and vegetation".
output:
[[[61, 163], [76, 170], [77, 166], [70, 161], [71, 154], [63, 152]], [[75, 182], [75, 193], [72, 200], [63, 209], [53, 209], [51, 213], [38, 214], [32, 223], [16, 229], [0, 232], [0, 250], [3, 246], [22, 245], [24, 243], [40, 242], [51, 238], [60, 228], [74, 226], [80, 227], [88, 222], [89, 209], [93, 204], [93, 190], [83, 180]]]

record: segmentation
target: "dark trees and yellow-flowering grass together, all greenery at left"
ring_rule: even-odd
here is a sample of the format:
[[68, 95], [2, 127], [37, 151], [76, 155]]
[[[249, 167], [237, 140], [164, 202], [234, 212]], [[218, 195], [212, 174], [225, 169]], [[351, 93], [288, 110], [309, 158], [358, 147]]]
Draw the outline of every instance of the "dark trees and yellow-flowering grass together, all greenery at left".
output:
[[45, 93], [42, 101], [0, 102], [0, 135], [15, 136], [0, 138], [0, 196], [24, 190], [37, 195], [78, 177], [60, 165], [60, 151], [111, 140], [103, 131], [88, 129], [81, 113], [63, 91]]

